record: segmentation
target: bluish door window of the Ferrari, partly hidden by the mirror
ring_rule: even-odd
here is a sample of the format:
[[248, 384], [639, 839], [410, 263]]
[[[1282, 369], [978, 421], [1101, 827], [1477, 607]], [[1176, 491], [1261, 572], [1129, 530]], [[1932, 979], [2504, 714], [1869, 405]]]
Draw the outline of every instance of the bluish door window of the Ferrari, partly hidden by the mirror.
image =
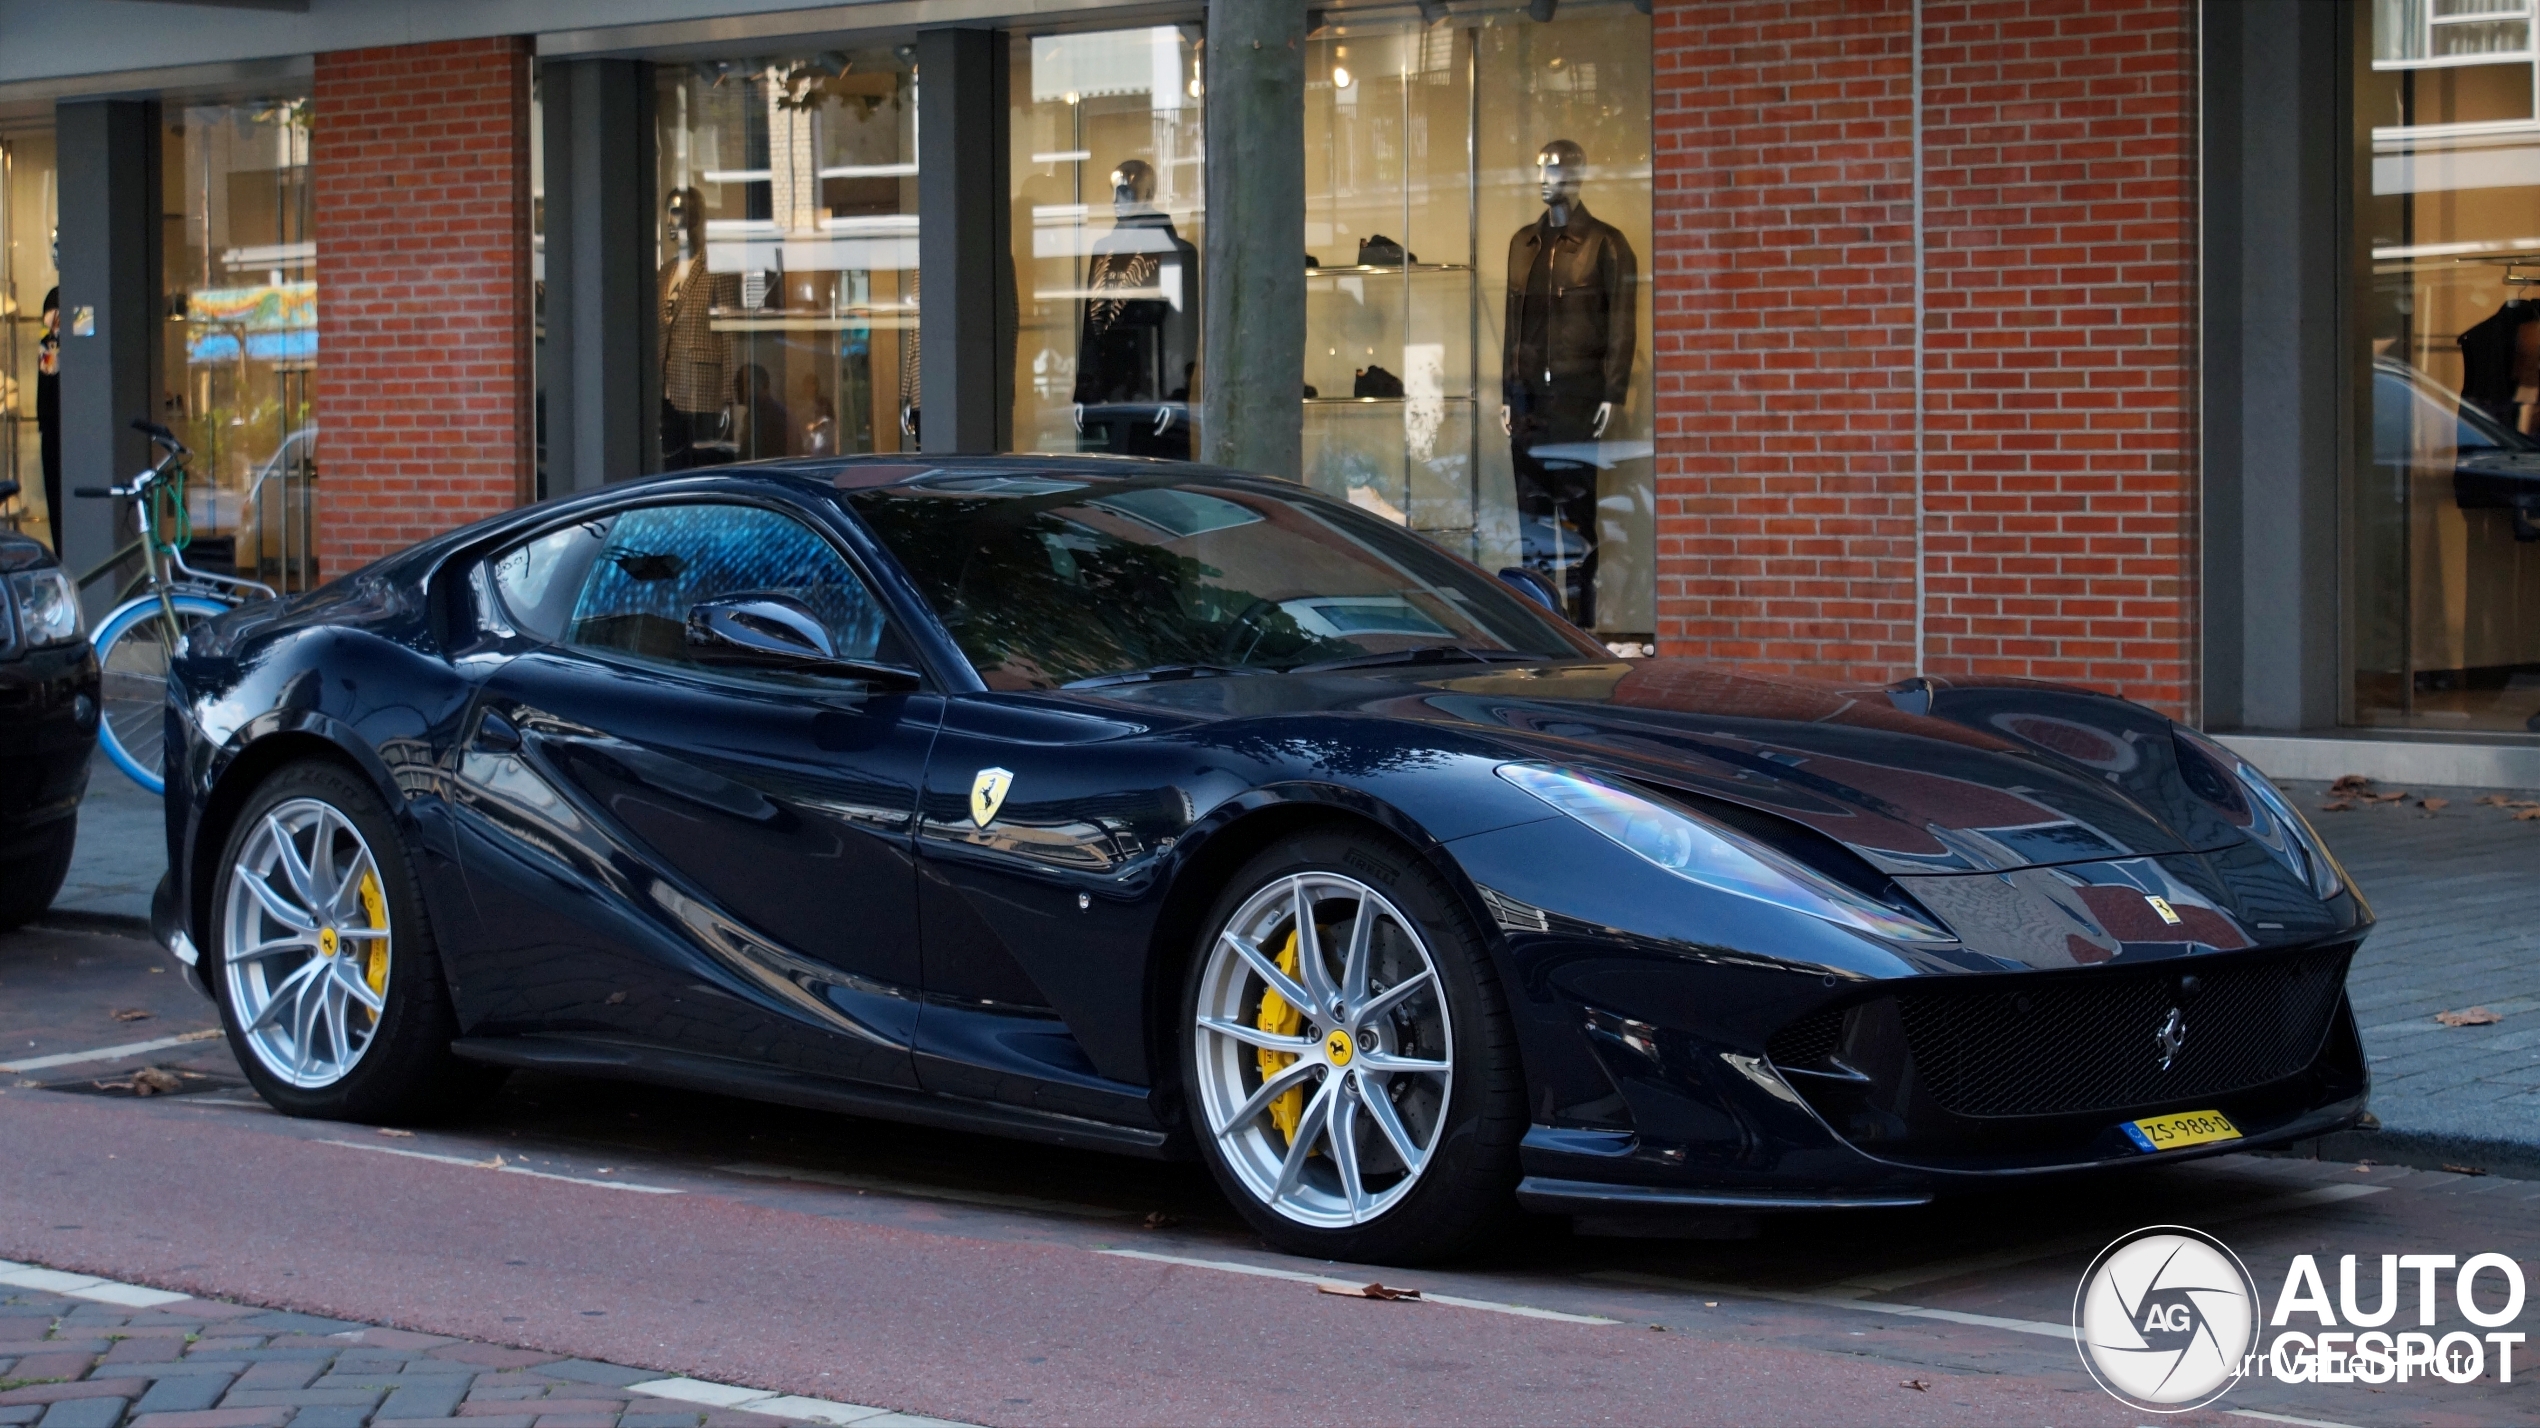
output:
[[564, 640], [693, 666], [688, 610], [726, 595], [787, 595], [810, 607], [838, 658], [886, 658], [881, 605], [826, 539], [790, 516], [724, 503], [620, 513], [589, 562]]

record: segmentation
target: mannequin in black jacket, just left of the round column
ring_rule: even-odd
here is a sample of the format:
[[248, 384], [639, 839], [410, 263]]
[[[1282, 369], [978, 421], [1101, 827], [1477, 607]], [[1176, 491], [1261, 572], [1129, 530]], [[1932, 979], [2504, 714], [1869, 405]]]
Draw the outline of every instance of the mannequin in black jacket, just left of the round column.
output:
[[[1199, 249], [1156, 211], [1156, 170], [1120, 160], [1113, 170], [1113, 231], [1085, 264], [1085, 325], [1077, 335], [1077, 429], [1087, 407], [1143, 407], [1143, 419], [1095, 419], [1097, 450], [1191, 455], [1191, 363], [1199, 361]], [[1143, 290], [1138, 297], [1107, 297]], [[1156, 295], [1161, 292], [1161, 295]]]

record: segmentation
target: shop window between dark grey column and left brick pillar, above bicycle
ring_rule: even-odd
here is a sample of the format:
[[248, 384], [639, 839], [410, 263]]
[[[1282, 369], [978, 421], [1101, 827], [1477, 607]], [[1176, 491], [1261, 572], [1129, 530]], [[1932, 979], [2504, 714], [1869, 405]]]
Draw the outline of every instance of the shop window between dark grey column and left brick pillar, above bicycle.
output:
[[163, 422], [193, 447], [188, 559], [305, 589], [318, 579], [310, 102], [190, 104], [160, 142]]

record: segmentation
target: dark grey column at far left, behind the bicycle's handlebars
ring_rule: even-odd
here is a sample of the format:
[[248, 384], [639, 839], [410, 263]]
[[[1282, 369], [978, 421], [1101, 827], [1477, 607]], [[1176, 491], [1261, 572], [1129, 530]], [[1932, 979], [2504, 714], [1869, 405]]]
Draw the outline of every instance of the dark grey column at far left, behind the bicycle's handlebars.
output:
[[[74, 574], [132, 539], [124, 503], [71, 488], [122, 485], [150, 465], [135, 417], [160, 419], [160, 114], [152, 102], [53, 109], [61, 173], [61, 564]], [[137, 564], [135, 564], [137, 569]], [[89, 584], [94, 623], [122, 572]]]

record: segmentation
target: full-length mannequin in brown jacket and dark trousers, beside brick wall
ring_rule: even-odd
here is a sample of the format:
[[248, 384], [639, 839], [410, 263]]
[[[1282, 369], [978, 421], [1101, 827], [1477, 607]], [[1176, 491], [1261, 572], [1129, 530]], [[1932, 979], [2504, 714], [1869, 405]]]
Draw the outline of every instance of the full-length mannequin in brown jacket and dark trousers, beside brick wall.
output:
[[1534, 155], [1542, 219], [1509, 239], [1509, 315], [1499, 361], [1499, 429], [1516, 468], [1519, 518], [1549, 536], [1527, 564], [1562, 587], [1567, 612], [1595, 625], [1593, 460], [1539, 457], [1537, 447], [1595, 442], [1631, 394], [1638, 343], [1638, 259], [1623, 234], [1588, 211], [1588, 155], [1552, 140]]

